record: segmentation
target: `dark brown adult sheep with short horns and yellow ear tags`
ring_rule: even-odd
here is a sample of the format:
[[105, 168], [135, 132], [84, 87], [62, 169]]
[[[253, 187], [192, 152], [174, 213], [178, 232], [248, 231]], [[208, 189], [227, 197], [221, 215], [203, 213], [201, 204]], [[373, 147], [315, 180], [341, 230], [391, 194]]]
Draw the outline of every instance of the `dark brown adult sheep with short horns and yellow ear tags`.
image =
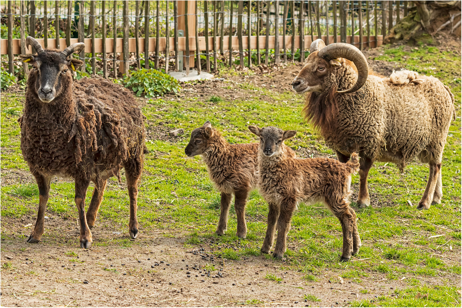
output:
[[[21, 126], [21, 151], [39, 189], [37, 221], [29, 243], [38, 243], [44, 231], [44, 215], [53, 176], [75, 180], [75, 203], [79, 211], [80, 247], [90, 248], [90, 229], [95, 224], [107, 179], [125, 168], [130, 198], [129, 231], [138, 236], [136, 219], [138, 181], [146, 153], [144, 116], [134, 96], [123, 86], [104, 79], [73, 79], [83, 64], [68, 57], [85, 48], [76, 43], [64, 51], [43, 50], [28, 36], [36, 55], [20, 58], [32, 65], [27, 80]], [[95, 183], [85, 214], [85, 195]]]

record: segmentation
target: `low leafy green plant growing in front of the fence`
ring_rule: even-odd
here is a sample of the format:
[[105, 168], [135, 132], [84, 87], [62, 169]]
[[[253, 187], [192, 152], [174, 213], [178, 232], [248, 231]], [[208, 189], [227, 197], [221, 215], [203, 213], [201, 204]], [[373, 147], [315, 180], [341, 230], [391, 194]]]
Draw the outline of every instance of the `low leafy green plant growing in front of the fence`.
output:
[[160, 96], [165, 93], [177, 93], [181, 87], [178, 80], [163, 72], [145, 68], [130, 71], [130, 76], [124, 75], [122, 83], [132, 89], [136, 96]]

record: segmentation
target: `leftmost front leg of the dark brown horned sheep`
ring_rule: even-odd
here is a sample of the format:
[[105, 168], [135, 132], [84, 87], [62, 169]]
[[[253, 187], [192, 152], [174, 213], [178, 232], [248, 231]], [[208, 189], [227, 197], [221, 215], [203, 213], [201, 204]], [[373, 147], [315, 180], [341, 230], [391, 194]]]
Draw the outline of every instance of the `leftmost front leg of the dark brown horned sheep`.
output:
[[37, 220], [35, 223], [34, 231], [30, 234], [30, 237], [27, 239], [27, 243], [38, 243], [42, 237], [43, 232], [45, 231], [45, 209], [47, 208], [47, 202], [50, 191], [50, 180], [51, 177], [44, 176], [39, 172], [32, 172], [34, 175], [37, 186], [38, 186], [38, 213]]

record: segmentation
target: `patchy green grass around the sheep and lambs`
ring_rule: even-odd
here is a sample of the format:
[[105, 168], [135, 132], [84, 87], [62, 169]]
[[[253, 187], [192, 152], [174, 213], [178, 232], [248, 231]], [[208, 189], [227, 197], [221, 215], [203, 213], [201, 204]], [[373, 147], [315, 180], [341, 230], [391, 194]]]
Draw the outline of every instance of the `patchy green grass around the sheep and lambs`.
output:
[[[432, 205], [429, 210], [417, 211], [416, 205], [426, 186], [428, 166], [417, 160], [410, 163], [404, 174], [400, 174], [392, 163], [374, 164], [369, 172], [369, 191], [372, 207], [359, 209], [352, 202], [357, 217], [359, 235], [363, 246], [359, 254], [347, 264], [339, 262], [342, 239], [341, 226], [331, 213], [321, 206], [300, 204], [292, 219], [288, 234], [288, 250], [284, 266], [301, 269], [303, 280], [325, 279], [326, 269], [345, 280], [398, 280], [406, 289], [398, 296], [374, 298], [375, 302], [352, 302], [355, 305], [374, 306], [458, 306], [460, 296], [453, 286], [441, 279], [461, 274], [460, 263], [444, 258], [444, 255], [460, 254], [461, 249], [461, 65], [460, 55], [444, 48], [420, 46], [418, 50], [405, 51], [404, 47], [381, 47], [383, 56], [376, 59], [397, 63], [397, 67], [413, 69], [420, 74], [433, 75], [448, 85], [456, 99], [457, 118], [450, 126], [450, 133], [443, 155], [443, 199], [441, 205]], [[435, 68], [435, 69], [430, 69]], [[233, 74], [238, 72], [233, 72]], [[265, 75], [271, 78], [272, 75]], [[220, 83], [225, 89], [236, 90], [237, 98], [220, 92], [213, 96], [164, 97], [152, 99], [144, 107], [148, 118], [145, 173], [141, 179], [138, 196], [138, 221], [140, 234], [151, 236], [182, 237], [188, 249], [211, 247], [216, 255], [229, 260], [251, 257], [261, 262], [278, 264], [271, 255], [260, 255], [266, 231], [267, 204], [257, 192], [249, 196], [246, 211], [248, 234], [238, 239], [236, 213], [231, 205], [228, 230], [222, 237], [214, 235], [219, 219], [220, 194], [213, 188], [207, 170], [200, 157], [188, 158], [184, 148], [189, 142], [190, 132], [210, 120], [230, 142], [256, 142], [247, 126], [274, 125], [285, 130], [297, 130], [297, 135], [286, 144], [299, 157], [328, 156], [334, 152], [325, 145], [319, 134], [302, 118], [304, 97], [289, 91], [267, 89], [254, 83], [231, 81]], [[22, 94], [23, 95], [23, 94]], [[20, 129], [17, 118], [24, 98], [17, 93], [1, 93], [1, 168], [29, 172], [19, 148]], [[185, 134], [170, 140], [160, 140], [155, 131], [183, 128]], [[6, 173], [5, 173], [6, 174]], [[4, 174], [2, 174], [3, 176]], [[125, 178], [122, 175], [122, 181]], [[354, 193], [358, 192], [359, 176], [352, 180]], [[24, 183], [21, 181], [21, 183]], [[17, 234], [9, 229], [15, 223], [23, 227], [20, 219], [36, 217], [38, 191], [34, 183], [7, 184], [1, 187], [1, 241], [12, 241]], [[174, 192], [174, 193], [173, 193]], [[87, 204], [92, 188], [87, 191]], [[73, 201], [73, 183], [58, 181], [51, 183], [47, 216], [69, 221], [78, 221], [78, 212]], [[353, 200], [354, 201], [354, 200]], [[408, 203], [411, 201], [413, 207]], [[96, 221], [98, 230], [128, 234], [129, 201], [126, 189], [120, 189], [116, 179], [108, 181], [104, 200]], [[45, 225], [50, 225], [45, 220]], [[46, 230], [47, 227], [46, 227]], [[25, 231], [24, 231], [25, 232]], [[441, 237], [433, 235], [444, 234]], [[70, 251], [77, 249], [79, 238], [67, 239]], [[132, 247], [138, 241], [123, 238], [95, 238], [94, 247], [112, 245]], [[213, 240], [213, 245], [210, 241]], [[64, 245], [64, 236], [48, 232], [42, 237], [46, 244]], [[452, 247], [452, 251], [450, 250]], [[71, 251], [72, 252], [72, 251]], [[73, 255], [69, 255], [73, 257]], [[66, 258], [67, 259], [67, 258]], [[454, 258], [451, 258], [454, 260]], [[75, 260], [75, 259], [74, 259]], [[2, 265], [2, 270], [3, 270]], [[214, 270], [213, 265], [207, 265]], [[437, 281], [426, 284], [426, 277]], [[415, 278], [417, 277], [417, 278]], [[265, 277], [281, 281], [274, 274]], [[278, 279], [278, 280], [276, 280]], [[441, 280], [441, 281], [440, 281]], [[440, 281], [440, 282], [438, 282]], [[307, 284], [309, 284], [307, 282]], [[370, 292], [370, 288], [368, 288]], [[418, 293], [427, 294], [416, 299]], [[447, 293], [447, 294], [446, 294]]]

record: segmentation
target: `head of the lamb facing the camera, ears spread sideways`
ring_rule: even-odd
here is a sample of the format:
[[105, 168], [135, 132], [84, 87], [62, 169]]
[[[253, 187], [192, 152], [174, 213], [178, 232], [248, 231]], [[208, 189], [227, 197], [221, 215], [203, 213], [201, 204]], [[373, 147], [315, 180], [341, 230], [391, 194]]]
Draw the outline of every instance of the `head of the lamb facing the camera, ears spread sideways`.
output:
[[297, 133], [295, 130], [284, 131], [274, 126], [259, 128], [251, 125], [249, 130], [260, 137], [260, 151], [266, 157], [278, 157], [284, 140], [292, 138]]

